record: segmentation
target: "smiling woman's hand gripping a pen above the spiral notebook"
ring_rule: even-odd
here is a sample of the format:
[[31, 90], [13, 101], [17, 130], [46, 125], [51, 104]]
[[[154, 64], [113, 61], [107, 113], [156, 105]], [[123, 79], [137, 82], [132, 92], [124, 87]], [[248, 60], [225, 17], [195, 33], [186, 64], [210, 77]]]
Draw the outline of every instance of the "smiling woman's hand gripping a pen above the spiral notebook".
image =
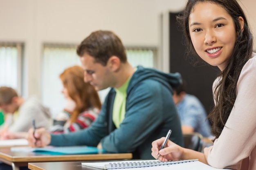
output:
[[159, 150], [164, 142], [165, 137], [157, 139], [152, 142], [151, 155], [157, 159], [157, 155], [160, 154], [159, 161], [181, 160], [184, 159], [184, 148], [178, 146], [172, 141], [168, 140], [164, 149]]

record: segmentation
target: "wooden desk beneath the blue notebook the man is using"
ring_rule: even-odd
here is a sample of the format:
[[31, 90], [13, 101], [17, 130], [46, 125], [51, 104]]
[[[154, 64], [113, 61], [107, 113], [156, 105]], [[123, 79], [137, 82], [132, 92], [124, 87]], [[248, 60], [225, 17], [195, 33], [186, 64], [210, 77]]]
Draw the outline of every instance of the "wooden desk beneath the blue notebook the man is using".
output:
[[132, 159], [132, 154], [103, 153], [86, 155], [51, 155], [37, 152], [11, 152], [11, 148], [0, 148], [0, 161], [11, 165], [13, 170], [19, 170], [20, 166], [28, 166], [29, 162], [99, 161], [120, 159]]

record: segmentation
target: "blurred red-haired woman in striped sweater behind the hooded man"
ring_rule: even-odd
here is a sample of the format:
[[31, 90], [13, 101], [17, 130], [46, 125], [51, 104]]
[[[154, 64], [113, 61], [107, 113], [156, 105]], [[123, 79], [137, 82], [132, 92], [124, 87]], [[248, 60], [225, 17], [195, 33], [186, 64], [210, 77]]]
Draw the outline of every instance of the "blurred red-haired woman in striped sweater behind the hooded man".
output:
[[65, 108], [54, 119], [52, 133], [69, 133], [88, 128], [98, 117], [101, 101], [95, 88], [83, 80], [83, 68], [72, 66], [59, 76], [62, 93], [66, 98]]

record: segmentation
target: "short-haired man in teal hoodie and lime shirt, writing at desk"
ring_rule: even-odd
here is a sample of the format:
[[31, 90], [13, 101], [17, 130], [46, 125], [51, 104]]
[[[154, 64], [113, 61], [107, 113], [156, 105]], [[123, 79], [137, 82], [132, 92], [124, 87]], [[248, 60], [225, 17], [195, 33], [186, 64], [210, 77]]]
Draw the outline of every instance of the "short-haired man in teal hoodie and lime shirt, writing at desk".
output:
[[151, 143], [166, 136], [183, 145], [180, 119], [173, 102], [173, 87], [180, 74], [152, 68], [133, 68], [121, 40], [111, 31], [91, 33], [77, 48], [84, 80], [97, 90], [111, 87], [99, 117], [87, 129], [53, 135], [44, 128], [29, 130], [32, 147], [98, 146], [107, 152], [132, 152], [133, 159], [152, 159]]

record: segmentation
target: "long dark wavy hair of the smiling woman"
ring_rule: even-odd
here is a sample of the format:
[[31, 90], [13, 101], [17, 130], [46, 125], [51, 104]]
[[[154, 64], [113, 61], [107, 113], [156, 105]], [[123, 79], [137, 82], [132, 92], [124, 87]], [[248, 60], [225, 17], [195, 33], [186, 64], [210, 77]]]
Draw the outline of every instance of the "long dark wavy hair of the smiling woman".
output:
[[[195, 4], [211, 2], [224, 8], [231, 15], [237, 33], [234, 51], [225, 69], [219, 74], [220, 81], [213, 91], [216, 105], [208, 118], [212, 125], [212, 135], [217, 139], [231, 113], [237, 95], [237, 82], [245, 63], [252, 57], [253, 37], [245, 14], [236, 0], [188, 0], [183, 15], [177, 16], [177, 22], [182, 26], [187, 40], [188, 53], [198, 56], [193, 48], [189, 34], [189, 15]], [[244, 19], [244, 30], [239, 27], [238, 18]], [[199, 56], [198, 56], [199, 57]]]

